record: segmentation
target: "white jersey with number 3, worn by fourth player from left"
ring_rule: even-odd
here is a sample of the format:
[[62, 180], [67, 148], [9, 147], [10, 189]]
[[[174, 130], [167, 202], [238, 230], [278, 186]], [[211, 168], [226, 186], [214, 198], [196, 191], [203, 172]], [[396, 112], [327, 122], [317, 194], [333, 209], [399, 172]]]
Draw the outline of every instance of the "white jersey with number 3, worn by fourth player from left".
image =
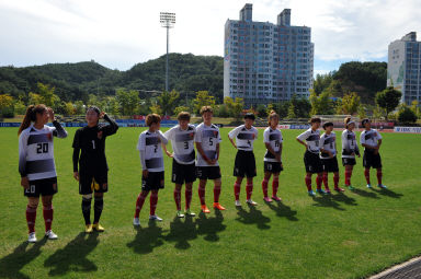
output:
[[194, 163], [195, 133], [196, 128], [191, 124], [189, 124], [189, 127], [185, 130], [182, 130], [180, 125], [177, 125], [163, 133], [168, 140], [171, 140], [172, 150], [174, 151], [174, 160], [179, 164]]

